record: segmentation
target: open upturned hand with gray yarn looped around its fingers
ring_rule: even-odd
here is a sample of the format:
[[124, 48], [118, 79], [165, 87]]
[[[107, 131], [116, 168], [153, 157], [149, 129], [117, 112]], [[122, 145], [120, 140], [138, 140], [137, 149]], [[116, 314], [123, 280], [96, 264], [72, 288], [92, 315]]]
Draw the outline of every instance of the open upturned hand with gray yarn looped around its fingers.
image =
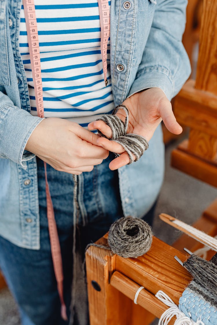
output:
[[[136, 93], [127, 98], [123, 102], [123, 105], [129, 110], [127, 133], [135, 133], [144, 136], [145, 139], [149, 141], [162, 120], [171, 133], [182, 133], [182, 127], [175, 119], [171, 103], [160, 88], [149, 88]], [[124, 110], [118, 110], [116, 115], [122, 121], [125, 121], [126, 114]], [[88, 129], [98, 129], [108, 138], [112, 136], [110, 127], [103, 121], [89, 123]], [[118, 169], [129, 163], [129, 156], [119, 143], [104, 137], [100, 137], [97, 143], [106, 150], [120, 154], [119, 157], [110, 162], [109, 168], [111, 170]]]

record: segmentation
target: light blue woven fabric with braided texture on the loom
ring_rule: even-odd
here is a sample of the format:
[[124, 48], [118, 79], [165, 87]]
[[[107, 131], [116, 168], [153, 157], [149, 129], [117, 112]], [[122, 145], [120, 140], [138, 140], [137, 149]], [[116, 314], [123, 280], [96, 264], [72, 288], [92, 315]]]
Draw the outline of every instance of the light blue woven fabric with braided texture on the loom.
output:
[[217, 309], [188, 288], [179, 299], [179, 309], [195, 322], [199, 319], [204, 325], [217, 324]]

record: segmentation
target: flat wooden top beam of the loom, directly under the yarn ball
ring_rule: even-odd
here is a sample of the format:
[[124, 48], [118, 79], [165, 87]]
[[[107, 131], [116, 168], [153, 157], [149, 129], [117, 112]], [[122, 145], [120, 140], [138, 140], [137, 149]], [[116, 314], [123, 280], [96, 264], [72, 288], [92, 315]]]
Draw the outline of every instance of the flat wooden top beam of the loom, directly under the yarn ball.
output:
[[151, 249], [146, 254], [137, 258], [117, 255], [115, 269], [154, 295], [158, 290], [163, 290], [178, 304], [191, 277], [174, 259], [175, 255], [182, 261], [186, 260], [185, 254], [153, 237]]

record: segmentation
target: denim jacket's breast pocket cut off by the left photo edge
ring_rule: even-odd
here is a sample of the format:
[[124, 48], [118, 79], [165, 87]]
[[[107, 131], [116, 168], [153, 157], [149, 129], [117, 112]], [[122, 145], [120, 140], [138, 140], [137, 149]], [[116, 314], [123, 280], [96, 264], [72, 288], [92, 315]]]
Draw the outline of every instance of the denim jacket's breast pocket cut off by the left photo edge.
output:
[[6, 33], [7, 21], [8, 15], [6, 15], [6, 1], [0, 1], [0, 84], [2, 85], [10, 85]]

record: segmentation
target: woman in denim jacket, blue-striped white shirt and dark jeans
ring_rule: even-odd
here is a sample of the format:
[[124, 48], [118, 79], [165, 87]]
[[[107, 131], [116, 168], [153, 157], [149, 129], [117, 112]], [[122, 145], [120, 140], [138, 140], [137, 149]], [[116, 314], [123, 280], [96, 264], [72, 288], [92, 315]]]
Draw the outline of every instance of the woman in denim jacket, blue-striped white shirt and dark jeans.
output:
[[[46, 5], [35, 0], [46, 117], [41, 119], [36, 116], [21, 1], [1, 1], [0, 267], [23, 324], [67, 324], [60, 316], [50, 253], [43, 161], [61, 244], [68, 318], [72, 174], [78, 175], [75, 194], [83, 252], [116, 218], [143, 217], [155, 203], [164, 168], [159, 124], [163, 120], [170, 132], [182, 132], [170, 99], [190, 73], [181, 42], [186, 2], [109, 2], [105, 87], [97, 0], [49, 0]], [[122, 103], [129, 110], [128, 132], [149, 141], [148, 150], [130, 165], [120, 145], [90, 132], [100, 129], [110, 136], [102, 121], [94, 121]], [[125, 118], [122, 112], [117, 114]], [[121, 155], [108, 156], [109, 151]], [[79, 304], [74, 324], [85, 325], [78, 319], [78, 309]]]

